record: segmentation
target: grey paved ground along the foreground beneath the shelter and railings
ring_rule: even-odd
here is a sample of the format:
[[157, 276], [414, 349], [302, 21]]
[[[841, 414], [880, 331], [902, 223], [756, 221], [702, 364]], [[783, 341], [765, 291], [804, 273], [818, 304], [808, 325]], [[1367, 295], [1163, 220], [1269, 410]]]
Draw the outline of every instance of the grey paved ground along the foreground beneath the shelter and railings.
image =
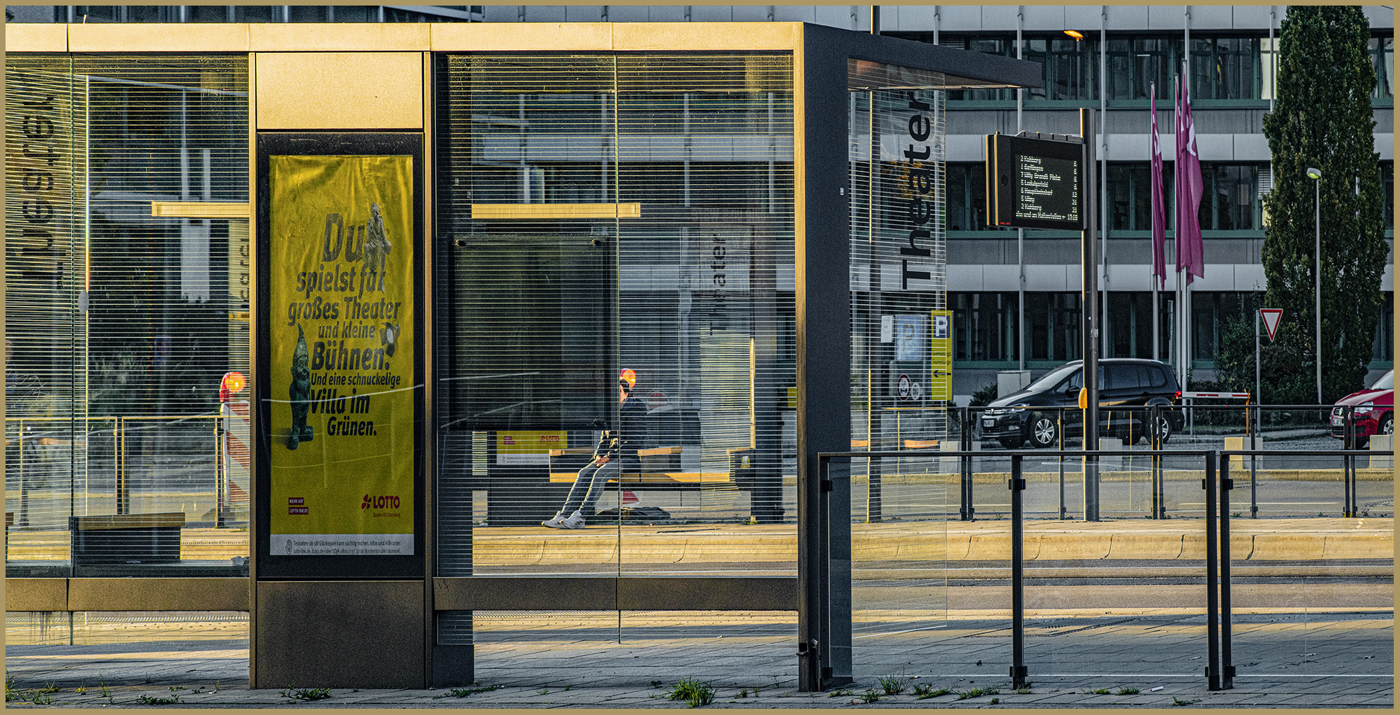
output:
[[[708, 708], [1394, 707], [1389, 610], [1236, 614], [1239, 672], [1222, 691], [1208, 691], [1201, 673], [1204, 616], [1180, 609], [1028, 618], [1022, 691], [1007, 676], [1011, 631], [1001, 614], [917, 623], [872, 614], [855, 624], [855, 683], [815, 694], [797, 690], [788, 614], [617, 623], [616, 614], [482, 613], [475, 684], [330, 688], [318, 700], [309, 700], [321, 694], [315, 683], [249, 690], [246, 638], [13, 645], [7, 707], [686, 708], [668, 698], [683, 677], [713, 688]], [[903, 691], [886, 694], [882, 677]]]

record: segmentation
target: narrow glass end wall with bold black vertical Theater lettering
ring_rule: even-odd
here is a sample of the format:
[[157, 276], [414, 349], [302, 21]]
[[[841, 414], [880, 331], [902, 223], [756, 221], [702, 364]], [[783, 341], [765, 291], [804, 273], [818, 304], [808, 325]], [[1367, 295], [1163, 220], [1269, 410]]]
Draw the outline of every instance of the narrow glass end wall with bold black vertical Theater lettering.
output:
[[[941, 77], [923, 81], [937, 87]], [[956, 444], [948, 432], [956, 316], [945, 270], [945, 102], [946, 92], [934, 90], [850, 94], [858, 449]], [[855, 459], [850, 514], [854, 673], [914, 674], [904, 667], [909, 653], [935, 648], [948, 625], [948, 479], [938, 459]]]

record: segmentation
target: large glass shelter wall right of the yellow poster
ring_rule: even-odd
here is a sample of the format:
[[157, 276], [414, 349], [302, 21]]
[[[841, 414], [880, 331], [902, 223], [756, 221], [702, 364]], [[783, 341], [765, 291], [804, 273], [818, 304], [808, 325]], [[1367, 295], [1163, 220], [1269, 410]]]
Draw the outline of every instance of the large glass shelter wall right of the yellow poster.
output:
[[445, 62], [440, 572], [795, 572], [791, 59]]

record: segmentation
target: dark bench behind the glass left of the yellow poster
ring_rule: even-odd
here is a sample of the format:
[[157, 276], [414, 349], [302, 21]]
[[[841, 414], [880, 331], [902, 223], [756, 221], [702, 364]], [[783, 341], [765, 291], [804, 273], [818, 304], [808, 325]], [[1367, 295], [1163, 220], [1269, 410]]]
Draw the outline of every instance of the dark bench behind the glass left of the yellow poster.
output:
[[70, 516], [73, 565], [179, 561], [185, 512]]

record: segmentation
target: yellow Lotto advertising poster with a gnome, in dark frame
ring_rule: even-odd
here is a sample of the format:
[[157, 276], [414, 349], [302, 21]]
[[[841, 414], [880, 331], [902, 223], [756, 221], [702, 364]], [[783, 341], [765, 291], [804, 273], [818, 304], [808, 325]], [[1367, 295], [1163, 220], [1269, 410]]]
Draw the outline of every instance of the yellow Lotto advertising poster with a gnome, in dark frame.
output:
[[270, 554], [413, 554], [413, 158], [269, 157]]

